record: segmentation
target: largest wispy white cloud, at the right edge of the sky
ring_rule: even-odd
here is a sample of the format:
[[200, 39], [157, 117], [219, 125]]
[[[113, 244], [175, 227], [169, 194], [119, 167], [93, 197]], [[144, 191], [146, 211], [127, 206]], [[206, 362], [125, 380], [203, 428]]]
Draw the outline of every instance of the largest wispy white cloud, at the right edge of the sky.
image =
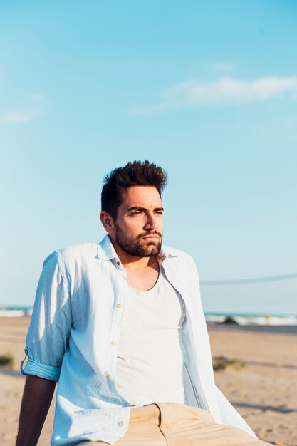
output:
[[296, 97], [297, 76], [258, 78], [254, 81], [239, 81], [226, 77], [208, 83], [188, 80], [168, 88], [160, 103], [137, 108], [134, 113], [146, 115], [204, 105], [263, 102], [284, 93]]

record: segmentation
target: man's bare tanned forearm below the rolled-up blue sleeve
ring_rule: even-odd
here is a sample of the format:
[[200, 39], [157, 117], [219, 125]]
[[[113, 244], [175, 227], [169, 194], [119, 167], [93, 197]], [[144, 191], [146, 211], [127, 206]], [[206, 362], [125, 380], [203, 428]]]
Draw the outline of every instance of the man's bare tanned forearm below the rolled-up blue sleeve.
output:
[[28, 375], [21, 401], [16, 446], [36, 446], [53, 399], [56, 381]]

